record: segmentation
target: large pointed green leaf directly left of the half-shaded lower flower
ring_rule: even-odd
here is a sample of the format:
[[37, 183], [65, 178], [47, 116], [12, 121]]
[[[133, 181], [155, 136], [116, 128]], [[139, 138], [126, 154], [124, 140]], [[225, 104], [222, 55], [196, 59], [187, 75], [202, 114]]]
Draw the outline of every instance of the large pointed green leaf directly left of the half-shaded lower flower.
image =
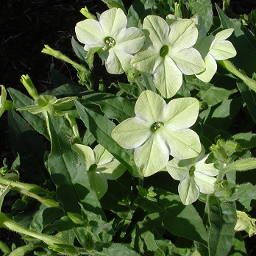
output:
[[82, 157], [71, 149], [71, 143], [57, 121], [49, 115], [51, 154], [49, 171], [57, 186], [57, 195], [66, 212], [81, 213], [82, 204], [91, 219], [104, 218], [96, 193], [90, 189], [88, 175], [82, 165]]

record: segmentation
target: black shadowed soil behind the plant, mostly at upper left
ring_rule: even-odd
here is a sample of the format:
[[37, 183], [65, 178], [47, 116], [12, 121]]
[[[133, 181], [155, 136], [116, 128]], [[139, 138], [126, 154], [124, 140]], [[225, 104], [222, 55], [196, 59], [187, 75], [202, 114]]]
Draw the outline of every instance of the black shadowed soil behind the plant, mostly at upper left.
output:
[[[126, 8], [132, 4], [132, 0], [123, 2]], [[221, 7], [222, 0], [216, 2]], [[248, 14], [256, 7], [254, 0], [231, 1], [231, 4], [236, 14]], [[85, 6], [93, 14], [107, 10], [107, 6], [100, 0], [2, 1], [0, 8], [0, 84], [6, 88], [15, 88], [26, 93], [20, 79], [22, 74], [29, 74], [38, 92], [43, 93], [52, 88], [51, 65], [67, 77], [77, 79], [76, 71], [71, 65], [66, 65], [40, 51], [45, 44], [48, 44], [51, 48], [62, 51], [63, 54], [77, 61], [71, 49], [71, 38], [75, 36], [74, 26], [84, 19], [79, 10]], [[101, 62], [96, 63], [98, 81], [100, 76], [110, 77], [101, 64]], [[113, 79], [116, 81], [124, 77], [115, 76]], [[7, 157], [11, 165], [13, 155], [8, 137], [7, 113], [0, 118], [0, 132], [0, 165], [4, 157]], [[10, 212], [11, 205], [12, 202], [5, 200], [2, 210]], [[12, 241], [10, 234], [13, 233], [0, 230], [0, 240], [10, 245]]]

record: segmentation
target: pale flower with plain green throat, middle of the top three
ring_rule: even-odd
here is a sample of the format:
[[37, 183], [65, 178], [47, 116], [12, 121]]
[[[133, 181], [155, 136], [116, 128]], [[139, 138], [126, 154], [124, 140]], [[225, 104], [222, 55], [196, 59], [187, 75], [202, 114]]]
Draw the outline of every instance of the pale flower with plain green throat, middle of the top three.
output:
[[182, 74], [198, 74], [205, 63], [196, 43], [198, 31], [190, 19], [181, 19], [168, 26], [159, 16], [148, 15], [143, 21], [145, 46], [132, 59], [133, 68], [152, 74], [155, 87], [166, 98], [177, 93]]

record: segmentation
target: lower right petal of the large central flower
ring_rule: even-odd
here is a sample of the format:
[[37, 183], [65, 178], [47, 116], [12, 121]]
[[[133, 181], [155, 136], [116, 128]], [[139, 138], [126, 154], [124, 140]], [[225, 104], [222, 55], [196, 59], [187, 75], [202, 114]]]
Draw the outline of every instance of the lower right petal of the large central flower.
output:
[[164, 127], [171, 155], [177, 159], [197, 157], [201, 152], [199, 136], [191, 129], [170, 130]]

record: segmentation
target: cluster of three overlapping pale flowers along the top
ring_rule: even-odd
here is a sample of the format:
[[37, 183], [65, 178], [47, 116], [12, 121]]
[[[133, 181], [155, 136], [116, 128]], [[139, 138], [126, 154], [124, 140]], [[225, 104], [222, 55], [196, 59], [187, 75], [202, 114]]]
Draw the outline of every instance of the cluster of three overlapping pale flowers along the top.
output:
[[182, 75], [193, 75], [209, 82], [216, 73], [216, 60], [234, 57], [230, 41], [233, 29], [209, 35], [196, 15], [182, 19], [168, 15], [166, 20], [148, 15], [143, 29], [127, 28], [121, 9], [111, 8], [96, 18], [80, 21], [77, 39], [84, 43], [87, 57], [98, 52], [110, 74], [122, 74], [135, 68], [152, 75], [154, 86], [170, 98], [182, 85]]

